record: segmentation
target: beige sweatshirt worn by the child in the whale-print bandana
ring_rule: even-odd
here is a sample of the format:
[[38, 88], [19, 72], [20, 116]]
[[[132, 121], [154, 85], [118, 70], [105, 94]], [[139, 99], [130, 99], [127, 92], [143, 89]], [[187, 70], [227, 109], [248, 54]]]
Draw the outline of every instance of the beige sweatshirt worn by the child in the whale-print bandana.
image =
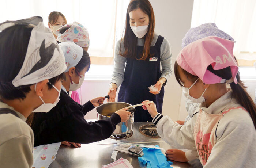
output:
[[[3, 102], [0, 102], [0, 108], [14, 110]], [[31, 168], [33, 165], [33, 130], [25, 122], [26, 118], [16, 113], [20, 118], [12, 114], [0, 115], [1, 168]]]

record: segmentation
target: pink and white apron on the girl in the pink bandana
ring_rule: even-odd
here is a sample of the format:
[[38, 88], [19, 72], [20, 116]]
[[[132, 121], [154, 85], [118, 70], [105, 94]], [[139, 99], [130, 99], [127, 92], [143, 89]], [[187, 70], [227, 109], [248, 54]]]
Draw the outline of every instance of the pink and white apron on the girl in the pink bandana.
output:
[[199, 116], [194, 126], [194, 140], [200, 162], [203, 166], [206, 164], [211, 154], [212, 147], [216, 144], [214, 136], [219, 120], [226, 113], [234, 109], [245, 110], [244, 107], [233, 107], [223, 111], [221, 114], [208, 114], [200, 109]]

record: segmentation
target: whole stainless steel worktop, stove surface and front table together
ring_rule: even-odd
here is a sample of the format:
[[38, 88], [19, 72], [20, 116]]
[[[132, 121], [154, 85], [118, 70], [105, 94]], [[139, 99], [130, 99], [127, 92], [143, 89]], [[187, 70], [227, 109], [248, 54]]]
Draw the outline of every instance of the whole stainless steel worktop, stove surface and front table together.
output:
[[[139, 143], [146, 145], [159, 145], [164, 149], [172, 149], [172, 146], [161, 140], [161, 138], [147, 138], [140, 134], [138, 128], [144, 124], [152, 122], [135, 122], [133, 127], [133, 135], [130, 138], [124, 140], [112, 140], [110, 138], [95, 142], [91, 144], [82, 144], [81, 148], [74, 148], [61, 145], [57, 152], [56, 160], [50, 165], [49, 168], [101, 168], [102, 165], [110, 164], [113, 148], [117, 145], [117, 142], [126, 143]], [[141, 168], [139, 165], [138, 157], [128, 154], [117, 154], [117, 159], [123, 157], [127, 159], [134, 168]], [[188, 163], [181, 163], [172, 161], [173, 168], [202, 168], [199, 160], [193, 160]], [[144, 167], [143, 167], [144, 168]]]

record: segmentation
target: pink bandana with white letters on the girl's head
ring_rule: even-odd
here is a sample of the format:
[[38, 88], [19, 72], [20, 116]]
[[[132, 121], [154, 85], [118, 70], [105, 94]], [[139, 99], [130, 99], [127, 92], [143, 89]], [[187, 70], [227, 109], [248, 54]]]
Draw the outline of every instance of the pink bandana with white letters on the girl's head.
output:
[[[176, 61], [182, 69], [198, 76], [203, 83], [231, 83], [234, 81], [237, 84], [238, 65], [233, 56], [233, 47], [233, 41], [215, 36], [205, 37], [184, 47]], [[222, 79], [207, 70], [209, 65], [212, 65], [214, 70], [230, 66], [232, 78]]]

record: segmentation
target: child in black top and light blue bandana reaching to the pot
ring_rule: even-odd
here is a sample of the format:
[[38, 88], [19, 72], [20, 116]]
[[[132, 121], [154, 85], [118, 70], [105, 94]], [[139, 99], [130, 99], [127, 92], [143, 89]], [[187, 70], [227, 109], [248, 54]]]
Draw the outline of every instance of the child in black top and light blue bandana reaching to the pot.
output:
[[[27, 121], [34, 131], [34, 146], [63, 141], [86, 144], [109, 138], [116, 129], [116, 125], [121, 121], [127, 121], [131, 113], [125, 111], [127, 109], [121, 109], [107, 120], [87, 122], [84, 115], [94, 106], [103, 104], [104, 97], [92, 99], [81, 106], [68, 96], [68, 92], [82, 85], [84, 75], [90, 68], [90, 57], [74, 42], [62, 42], [59, 46], [64, 53], [67, 65], [60, 101], [47, 114], [36, 113]], [[80, 146], [80, 144], [73, 145]]]

